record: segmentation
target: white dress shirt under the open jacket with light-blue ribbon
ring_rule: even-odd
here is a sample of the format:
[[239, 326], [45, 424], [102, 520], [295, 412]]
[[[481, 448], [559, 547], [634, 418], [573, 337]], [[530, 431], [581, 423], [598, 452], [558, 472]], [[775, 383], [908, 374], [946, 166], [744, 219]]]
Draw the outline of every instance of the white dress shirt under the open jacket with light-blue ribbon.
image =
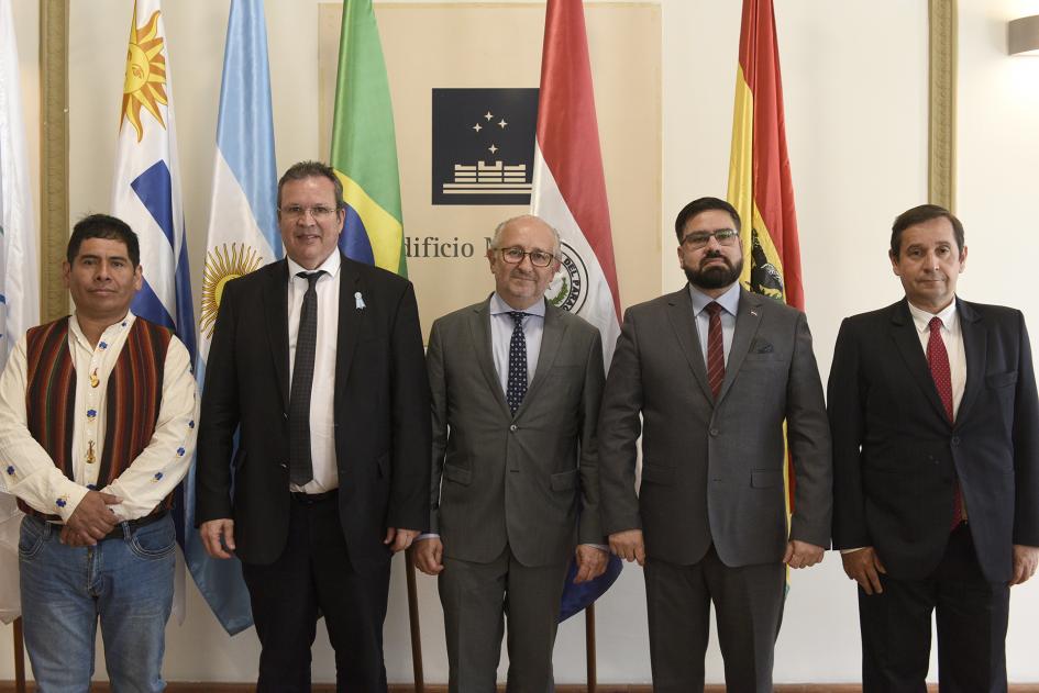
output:
[[340, 255], [332, 255], [316, 270], [305, 269], [288, 259], [288, 337], [289, 337], [289, 387], [296, 368], [296, 342], [299, 336], [299, 312], [309, 282], [299, 272], [324, 270], [314, 284], [318, 293], [318, 342], [313, 361], [313, 385], [310, 389], [310, 454], [313, 479], [292, 491], [324, 493], [339, 488], [339, 470], [335, 465], [335, 346], [339, 334], [339, 286]]

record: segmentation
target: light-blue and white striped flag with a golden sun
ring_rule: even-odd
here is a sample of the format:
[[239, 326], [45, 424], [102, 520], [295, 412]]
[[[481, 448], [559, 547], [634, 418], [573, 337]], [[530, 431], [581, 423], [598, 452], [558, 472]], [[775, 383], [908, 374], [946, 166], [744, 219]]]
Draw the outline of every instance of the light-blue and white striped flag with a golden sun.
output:
[[[263, 0], [232, 0], [223, 54], [206, 270], [196, 364], [199, 392], [224, 284], [281, 257], [275, 215], [277, 166], [270, 116]], [[230, 460], [229, 460], [230, 463]], [[195, 529], [195, 467], [185, 481], [185, 557], [195, 583], [224, 629], [253, 624], [236, 558], [210, 558]]]

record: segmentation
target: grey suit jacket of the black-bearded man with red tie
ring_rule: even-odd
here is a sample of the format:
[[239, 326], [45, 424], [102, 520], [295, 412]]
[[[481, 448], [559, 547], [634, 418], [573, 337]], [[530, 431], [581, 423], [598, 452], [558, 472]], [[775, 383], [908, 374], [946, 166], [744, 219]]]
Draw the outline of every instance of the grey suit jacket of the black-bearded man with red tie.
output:
[[[784, 421], [796, 476], [789, 535]], [[641, 528], [650, 557], [692, 565], [714, 543], [737, 567], [782, 560], [787, 536], [829, 546], [830, 433], [804, 313], [740, 291], [716, 402], [688, 288], [630, 308], [603, 395], [599, 460], [605, 530]]]

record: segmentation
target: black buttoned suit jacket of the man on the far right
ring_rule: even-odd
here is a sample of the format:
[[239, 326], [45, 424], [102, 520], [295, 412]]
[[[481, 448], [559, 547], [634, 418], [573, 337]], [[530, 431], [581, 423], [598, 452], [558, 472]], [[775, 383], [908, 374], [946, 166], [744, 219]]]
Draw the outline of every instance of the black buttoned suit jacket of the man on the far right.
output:
[[957, 477], [986, 578], [1039, 546], [1039, 403], [1020, 311], [957, 299], [966, 384], [950, 423], [905, 300], [844, 320], [830, 370], [834, 548], [873, 546], [889, 574], [941, 560]]

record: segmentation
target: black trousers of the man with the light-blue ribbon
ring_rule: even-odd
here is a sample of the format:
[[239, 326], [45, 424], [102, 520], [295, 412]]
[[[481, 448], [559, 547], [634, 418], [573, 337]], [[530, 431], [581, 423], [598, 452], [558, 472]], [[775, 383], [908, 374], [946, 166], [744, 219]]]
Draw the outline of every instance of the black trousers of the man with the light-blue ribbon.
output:
[[285, 550], [269, 566], [242, 563], [262, 646], [257, 693], [310, 693], [310, 648], [320, 613], [335, 650], [335, 690], [386, 691], [384, 563], [355, 570], [334, 494], [294, 496]]

